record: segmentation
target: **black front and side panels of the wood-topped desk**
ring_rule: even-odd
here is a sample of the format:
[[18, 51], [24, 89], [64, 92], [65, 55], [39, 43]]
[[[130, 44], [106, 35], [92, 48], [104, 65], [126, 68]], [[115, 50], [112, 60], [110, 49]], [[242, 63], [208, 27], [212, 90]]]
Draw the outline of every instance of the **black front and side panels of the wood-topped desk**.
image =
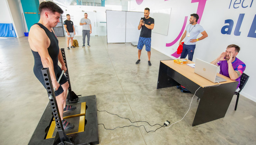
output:
[[182, 85], [201, 100], [195, 113], [192, 126], [210, 122], [225, 116], [238, 82], [219, 86], [201, 87], [179, 72], [160, 61], [157, 89]]

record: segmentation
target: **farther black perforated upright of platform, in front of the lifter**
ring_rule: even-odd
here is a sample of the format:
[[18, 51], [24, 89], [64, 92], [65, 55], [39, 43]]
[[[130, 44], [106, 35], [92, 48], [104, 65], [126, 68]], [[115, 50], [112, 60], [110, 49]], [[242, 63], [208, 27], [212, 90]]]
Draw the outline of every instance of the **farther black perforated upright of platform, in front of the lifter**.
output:
[[[61, 54], [62, 54], [64, 63], [65, 63], [65, 66], [67, 68], [67, 60], [66, 60], [66, 54], [65, 54], [65, 49], [64, 48], [61, 48]], [[69, 74], [68, 74], [68, 68], [67, 68], [67, 71], [65, 72], [65, 76], [66, 76], [67, 82], [69, 84], [66, 103], [76, 103], [77, 101], [79, 101], [79, 97], [74, 93], [74, 91], [72, 91], [71, 83], [70, 83], [70, 77], [69, 77]], [[81, 95], [79, 95], [79, 96], [81, 96]]]

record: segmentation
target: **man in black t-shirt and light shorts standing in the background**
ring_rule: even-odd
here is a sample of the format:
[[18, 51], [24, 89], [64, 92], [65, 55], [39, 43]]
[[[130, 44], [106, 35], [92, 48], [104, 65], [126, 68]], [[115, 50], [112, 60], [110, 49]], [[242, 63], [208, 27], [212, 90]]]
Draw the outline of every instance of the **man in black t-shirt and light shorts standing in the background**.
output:
[[64, 27], [67, 32], [67, 49], [70, 49], [69, 46], [69, 40], [71, 42], [71, 48], [75, 48], [73, 46], [73, 38], [75, 35], [75, 27], [73, 22], [70, 20], [70, 14], [67, 14], [67, 19], [64, 21]]

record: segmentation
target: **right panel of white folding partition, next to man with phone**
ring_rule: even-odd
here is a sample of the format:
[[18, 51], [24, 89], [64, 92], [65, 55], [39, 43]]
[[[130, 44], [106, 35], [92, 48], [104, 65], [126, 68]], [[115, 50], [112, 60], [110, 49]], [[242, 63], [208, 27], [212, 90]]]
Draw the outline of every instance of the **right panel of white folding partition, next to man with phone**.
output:
[[126, 12], [126, 40], [125, 42], [138, 42], [140, 30], [138, 25], [140, 18], [144, 17], [144, 12]]

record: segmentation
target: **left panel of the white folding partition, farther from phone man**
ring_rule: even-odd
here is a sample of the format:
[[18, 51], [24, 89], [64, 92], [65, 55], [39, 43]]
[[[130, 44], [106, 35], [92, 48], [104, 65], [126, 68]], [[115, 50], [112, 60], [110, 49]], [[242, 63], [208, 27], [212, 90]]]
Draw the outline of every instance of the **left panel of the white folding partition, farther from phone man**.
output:
[[106, 10], [107, 43], [125, 42], [126, 11]]

